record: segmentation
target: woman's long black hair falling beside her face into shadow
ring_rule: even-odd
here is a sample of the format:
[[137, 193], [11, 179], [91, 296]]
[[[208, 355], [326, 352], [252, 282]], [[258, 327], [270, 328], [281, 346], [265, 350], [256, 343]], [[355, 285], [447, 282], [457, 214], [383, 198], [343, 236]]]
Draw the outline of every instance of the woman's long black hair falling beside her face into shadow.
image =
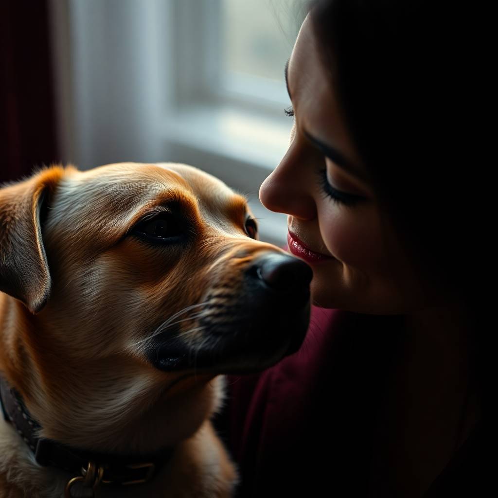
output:
[[479, 155], [482, 46], [468, 34], [470, 10], [470, 2], [317, 0], [310, 16], [385, 212], [419, 271], [461, 296], [482, 352], [480, 264], [492, 264], [494, 224]]

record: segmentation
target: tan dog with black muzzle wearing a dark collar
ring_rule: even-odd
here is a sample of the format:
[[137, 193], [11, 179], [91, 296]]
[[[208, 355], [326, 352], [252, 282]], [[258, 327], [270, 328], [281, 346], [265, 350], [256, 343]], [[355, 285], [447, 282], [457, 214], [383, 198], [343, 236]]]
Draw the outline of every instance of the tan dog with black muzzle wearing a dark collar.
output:
[[223, 374], [296, 352], [310, 267], [192, 166], [0, 189], [0, 498], [230, 497]]

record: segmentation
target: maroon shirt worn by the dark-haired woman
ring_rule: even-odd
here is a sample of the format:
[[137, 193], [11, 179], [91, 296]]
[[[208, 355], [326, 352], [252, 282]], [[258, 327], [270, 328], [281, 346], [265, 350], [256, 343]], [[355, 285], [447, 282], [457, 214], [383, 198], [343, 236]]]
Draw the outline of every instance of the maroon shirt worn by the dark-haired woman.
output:
[[[377, 410], [401, 323], [400, 317], [312, 308], [296, 354], [258, 375], [229, 377], [222, 433], [239, 464], [238, 497], [373, 496]], [[476, 496], [465, 495], [480, 472], [479, 465], [469, 470], [483, 438], [477, 446], [475, 440], [470, 453], [460, 452], [460, 467], [452, 464], [427, 496], [445, 496], [440, 489]]]

